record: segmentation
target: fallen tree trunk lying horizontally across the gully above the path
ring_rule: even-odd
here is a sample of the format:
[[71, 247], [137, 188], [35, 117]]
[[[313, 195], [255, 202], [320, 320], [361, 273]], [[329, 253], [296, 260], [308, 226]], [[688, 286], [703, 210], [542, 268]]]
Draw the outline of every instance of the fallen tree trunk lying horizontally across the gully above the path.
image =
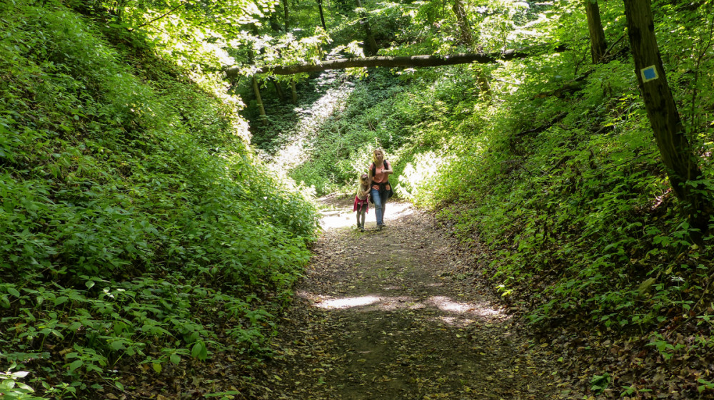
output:
[[[403, 57], [363, 57], [363, 58], [338, 58], [336, 60], [321, 61], [318, 64], [300, 63], [292, 66], [265, 66], [259, 68], [256, 73], [273, 73], [274, 75], [292, 75], [301, 72], [327, 71], [330, 69], [360, 68], [360, 67], [433, 67], [448, 66], [467, 63], [496, 63], [496, 61], [508, 61], [516, 58], [528, 58], [545, 51], [565, 51], [565, 45], [540, 45], [516, 50], [507, 50], [496, 53], [466, 53], [453, 54], [451, 56], [403, 56]], [[226, 68], [226, 75], [229, 78], [238, 76], [240, 68]]]

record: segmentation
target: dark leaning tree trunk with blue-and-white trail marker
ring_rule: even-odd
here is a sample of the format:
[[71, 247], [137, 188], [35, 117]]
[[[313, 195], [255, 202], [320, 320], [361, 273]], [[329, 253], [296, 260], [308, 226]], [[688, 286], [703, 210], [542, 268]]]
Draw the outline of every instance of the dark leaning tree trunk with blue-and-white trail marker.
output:
[[690, 225], [705, 232], [712, 207], [702, 173], [680, 120], [662, 66], [649, 0], [625, 0], [628, 36], [635, 59], [647, 116], [660, 149], [662, 161], [677, 198], [683, 202]]

